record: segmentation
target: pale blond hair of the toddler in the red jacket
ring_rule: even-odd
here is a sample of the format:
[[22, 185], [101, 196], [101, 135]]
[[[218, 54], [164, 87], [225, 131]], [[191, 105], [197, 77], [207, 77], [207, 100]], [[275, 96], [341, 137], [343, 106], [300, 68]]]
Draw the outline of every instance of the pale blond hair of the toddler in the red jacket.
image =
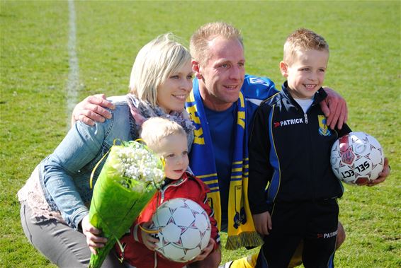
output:
[[[158, 151], [162, 139], [171, 135], [183, 135], [186, 138], [186, 132], [183, 127], [164, 117], [150, 117], [143, 122], [140, 129], [141, 139], [155, 152]], [[186, 139], [183, 142], [186, 144]]]

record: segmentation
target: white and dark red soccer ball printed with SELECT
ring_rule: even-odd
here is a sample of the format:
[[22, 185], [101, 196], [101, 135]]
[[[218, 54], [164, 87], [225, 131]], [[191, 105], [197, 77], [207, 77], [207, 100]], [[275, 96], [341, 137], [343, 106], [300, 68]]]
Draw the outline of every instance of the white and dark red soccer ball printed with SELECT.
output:
[[384, 153], [373, 136], [351, 132], [334, 142], [330, 161], [339, 180], [363, 185], [378, 178], [384, 166]]

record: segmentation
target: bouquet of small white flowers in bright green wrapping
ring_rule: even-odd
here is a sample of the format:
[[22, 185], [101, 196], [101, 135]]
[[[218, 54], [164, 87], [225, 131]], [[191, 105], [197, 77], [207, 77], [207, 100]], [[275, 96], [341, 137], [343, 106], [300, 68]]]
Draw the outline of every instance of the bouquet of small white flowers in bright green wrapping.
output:
[[162, 161], [144, 144], [122, 141], [111, 147], [89, 209], [89, 221], [101, 229], [108, 242], [96, 249], [97, 255], [91, 255], [89, 267], [101, 267], [108, 252], [119, 243], [163, 181]]

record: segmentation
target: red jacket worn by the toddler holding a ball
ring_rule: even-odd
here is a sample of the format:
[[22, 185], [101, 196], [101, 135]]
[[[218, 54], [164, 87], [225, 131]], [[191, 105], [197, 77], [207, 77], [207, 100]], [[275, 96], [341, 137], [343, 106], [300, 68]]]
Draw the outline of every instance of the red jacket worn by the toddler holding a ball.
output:
[[[212, 226], [212, 232], [210, 237], [215, 240], [215, 249], [220, 243], [220, 235], [218, 233], [217, 222], [213, 218], [213, 210], [208, 205], [208, 199], [206, 194], [209, 192], [208, 186], [206, 186], [197, 177], [193, 177], [189, 173], [183, 173], [183, 176], [179, 180], [173, 180], [169, 182], [163, 189], [156, 194], [149, 201], [145, 209], [141, 212], [140, 216], [136, 219], [135, 223], [130, 228], [130, 233], [123, 236], [120, 239], [120, 243], [124, 247], [124, 260], [129, 264], [137, 268], [153, 268], [154, 264], [157, 263], [159, 268], [181, 268], [185, 266], [185, 263], [171, 262], [161, 257], [159, 254], [155, 254], [154, 251], [149, 250], [142, 243], [142, 236], [139, 225], [141, 223], [149, 222], [152, 220], [154, 211], [157, 207], [166, 202], [169, 199], [174, 198], [186, 198], [195, 201], [205, 209], [209, 215], [210, 223]], [[115, 245], [115, 250], [119, 257], [122, 257], [120, 247]]]

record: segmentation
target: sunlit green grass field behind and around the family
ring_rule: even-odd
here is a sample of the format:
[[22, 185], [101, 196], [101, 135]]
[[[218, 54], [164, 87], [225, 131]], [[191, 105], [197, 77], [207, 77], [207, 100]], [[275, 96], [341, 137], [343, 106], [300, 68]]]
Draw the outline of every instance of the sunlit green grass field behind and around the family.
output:
[[[322, 34], [331, 55], [326, 84], [346, 98], [349, 124], [375, 136], [392, 174], [377, 187], [346, 186], [339, 201], [346, 242], [337, 267], [401, 267], [400, 1], [75, 1], [77, 100], [128, 91], [138, 49], [198, 26], [242, 30], [247, 72], [278, 85], [282, 45], [296, 28]], [[66, 133], [67, 1], [3, 1], [0, 96], [0, 267], [53, 267], [23, 235], [16, 192]], [[302, 157], [302, 156], [300, 156]], [[223, 251], [224, 261], [247, 250]]]

